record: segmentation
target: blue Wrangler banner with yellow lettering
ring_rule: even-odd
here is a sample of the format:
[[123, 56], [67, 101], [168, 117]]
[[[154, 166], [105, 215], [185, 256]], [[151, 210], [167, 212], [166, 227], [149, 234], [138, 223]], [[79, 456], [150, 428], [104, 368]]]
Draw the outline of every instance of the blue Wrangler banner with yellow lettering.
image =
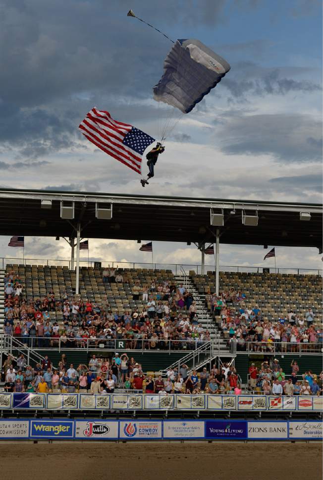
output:
[[74, 420], [30, 420], [31, 438], [73, 438]]

